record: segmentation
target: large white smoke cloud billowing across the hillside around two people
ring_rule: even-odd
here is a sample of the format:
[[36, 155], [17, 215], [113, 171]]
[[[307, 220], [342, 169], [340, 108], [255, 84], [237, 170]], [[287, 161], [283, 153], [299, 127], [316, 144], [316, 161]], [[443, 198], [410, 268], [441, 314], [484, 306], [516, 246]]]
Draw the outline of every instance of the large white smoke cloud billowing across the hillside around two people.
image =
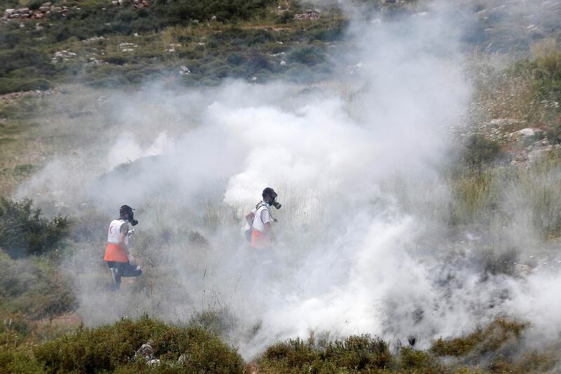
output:
[[[484, 277], [474, 259], [488, 233], [447, 229], [439, 175], [471, 100], [457, 26], [470, 22], [442, 4], [352, 22], [329, 84], [110, 93], [100, 110], [116, 126], [18, 192], [101, 217], [99, 240], [67, 266], [84, 321], [214, 311], [245, 357], [311, 332], [417, 335], [427, 347], [501, 315], [557, 336], [559, 272]], [[240, 229], [267, 186], [283, 203], [273, 212], [281, 243], [255, 258]], [[138, 208], [146, 271], [141, 289], [114, 294], [99, 264], [104, 219], [122, 203]], [[528, 227], [496, 230], [534, 243]]]

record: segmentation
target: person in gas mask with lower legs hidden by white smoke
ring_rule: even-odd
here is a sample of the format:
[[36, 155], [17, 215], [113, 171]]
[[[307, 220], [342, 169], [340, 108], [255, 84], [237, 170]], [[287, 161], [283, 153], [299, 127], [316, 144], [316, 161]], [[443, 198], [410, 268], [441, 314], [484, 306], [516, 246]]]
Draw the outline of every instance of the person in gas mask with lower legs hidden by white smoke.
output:
[[276, 222], [276, 219], [271, 217], [271, 206], [280, 209], [280, 203], [276, 201], [278, 195], [271, 187], [266, 187], [262, 196], [263, 200], [245, 216], [251, 229], [251, 246], [259, 249], [270, 248], [275, 242], [275, 236], [271, 231], [271, 220]]

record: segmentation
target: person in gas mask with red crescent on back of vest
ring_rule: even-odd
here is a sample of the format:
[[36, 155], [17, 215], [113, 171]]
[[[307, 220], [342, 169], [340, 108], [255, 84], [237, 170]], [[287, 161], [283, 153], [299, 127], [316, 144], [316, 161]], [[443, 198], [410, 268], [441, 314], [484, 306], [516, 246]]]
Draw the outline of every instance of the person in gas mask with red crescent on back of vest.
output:
[[[133, 255], [128, 250], [128, 239], [132, 236], [134, 229], [129, 231], [129, 223], [136, 226], [138, 221], [134, 218], [134, 209], [128, 205], [123, 205], [119, 209], [119, 218], [109, 223], [107, 231], [107, 246], [103, 257], [113, 276], [114, 290], [121, 286], [122, 276], [139, 276], [142, 274], [140, 266], [134, 263]], [[132, 262], [132, 263], [131, 263]]]

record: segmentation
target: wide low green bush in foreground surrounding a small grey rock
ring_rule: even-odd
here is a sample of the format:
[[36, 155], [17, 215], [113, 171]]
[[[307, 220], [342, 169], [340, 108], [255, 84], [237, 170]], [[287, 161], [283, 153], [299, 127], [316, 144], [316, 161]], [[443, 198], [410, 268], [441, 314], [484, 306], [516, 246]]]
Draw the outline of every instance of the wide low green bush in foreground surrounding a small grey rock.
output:
[[[147, 342], [161, 366], [147, 366], [144, 359], [135, 361], [135, 352]], [[148, 316], [136, 322], [122, 319], [110, 326], [81, 327], [37, 347], [34, 355], [48, 373], [243, 373], [241, 356], [215, 335]], [[187, 360], [179, 363], [182, 355]]]

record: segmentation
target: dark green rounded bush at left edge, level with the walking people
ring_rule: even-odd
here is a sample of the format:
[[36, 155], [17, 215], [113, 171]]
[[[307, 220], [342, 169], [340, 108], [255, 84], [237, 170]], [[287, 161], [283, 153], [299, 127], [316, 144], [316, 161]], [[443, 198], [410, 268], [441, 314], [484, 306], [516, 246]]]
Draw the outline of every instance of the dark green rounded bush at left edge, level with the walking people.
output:
[[67, 217], [41, 218], [33, 201], [0, 197], [0, 248], [12, 257], [41, 255], [53, 251], [69, 233]]

